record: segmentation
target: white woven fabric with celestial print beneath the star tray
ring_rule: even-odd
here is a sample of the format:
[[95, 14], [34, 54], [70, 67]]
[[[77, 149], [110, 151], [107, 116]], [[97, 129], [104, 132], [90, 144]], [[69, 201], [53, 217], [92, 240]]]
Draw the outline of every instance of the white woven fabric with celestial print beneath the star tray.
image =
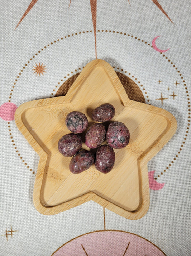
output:
[[[134, 100], [164, 108], [177, 120], [175, 135], [148, 163], [147, 214], [128, 220], [89, 201], [45, 216], [33, 205], [39, 156], [16, 127], [14, 110], [65, 94], [72, 77], [95, 59], [90, 1], [72, 0], [68, 8], [69, 3], [1, 1], [0, 255], [191, 255], [187, 0], [159, 1], [172, 22], [152, 0], [97, 0], [97, 58], [119, 72], [126, 90], [131, 85], [130, 92], [139, 92]], [[151, 47], [156, 37], [159, 51]]]

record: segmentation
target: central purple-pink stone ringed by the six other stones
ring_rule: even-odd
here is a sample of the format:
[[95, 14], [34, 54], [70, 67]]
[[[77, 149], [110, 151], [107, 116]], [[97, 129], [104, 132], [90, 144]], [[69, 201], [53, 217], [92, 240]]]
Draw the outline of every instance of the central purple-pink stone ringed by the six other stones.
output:
[[94, 123], [87, 130], [85, 144], [89, 148], [98, 148], [105, 139], [105, 126], [102, 123]]

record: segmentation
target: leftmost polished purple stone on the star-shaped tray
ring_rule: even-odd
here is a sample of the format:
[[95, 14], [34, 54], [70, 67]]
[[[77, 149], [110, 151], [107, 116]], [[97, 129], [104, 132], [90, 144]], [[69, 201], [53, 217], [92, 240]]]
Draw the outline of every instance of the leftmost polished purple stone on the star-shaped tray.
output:
[[82, 139], [74, 133], [66, 134], [58, 141], [58, 150], [65, 157], [74, 156], [81, 148]]

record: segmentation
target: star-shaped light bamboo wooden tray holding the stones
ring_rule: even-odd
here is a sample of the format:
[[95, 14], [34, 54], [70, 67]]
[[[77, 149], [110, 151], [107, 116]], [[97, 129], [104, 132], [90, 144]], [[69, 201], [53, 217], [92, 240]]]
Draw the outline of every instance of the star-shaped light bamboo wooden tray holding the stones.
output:
[[[113, 120], [128, 127], [130, 143], [124, 149], [114, 149], [116, 162], [108, 174], [94, 165], [72, 174], [68, 169], [71, 158], [58, 152], [58, 140], [70, 133], [65, 117], [71, 111], [81, 111], [90, 126], [94, 123], [92, 109], [103, 103], [114, 105]], [[148, 211], [147, 162], [177, 127], [175, 117], [166, 110], [129, 100], [114, 69], [104, 60], [87, 64], [66, 96], [22, 104], [15, 122], [40, 156], [33, 193], [39, 212], [57, 214], [94, 200], [128, 219], [139, 219]], [[82, 148], [88, 149], [84, 143]]]

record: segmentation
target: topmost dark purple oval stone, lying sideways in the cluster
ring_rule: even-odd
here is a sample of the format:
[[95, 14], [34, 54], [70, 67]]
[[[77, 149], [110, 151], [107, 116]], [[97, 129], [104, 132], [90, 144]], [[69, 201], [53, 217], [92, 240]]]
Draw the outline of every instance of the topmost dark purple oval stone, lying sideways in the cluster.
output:
[[115, 115], [115, 108], [109, 103], [105, 103], [95, 108], [92, 112], [92, 119], [96, 122], [106, 122]]

